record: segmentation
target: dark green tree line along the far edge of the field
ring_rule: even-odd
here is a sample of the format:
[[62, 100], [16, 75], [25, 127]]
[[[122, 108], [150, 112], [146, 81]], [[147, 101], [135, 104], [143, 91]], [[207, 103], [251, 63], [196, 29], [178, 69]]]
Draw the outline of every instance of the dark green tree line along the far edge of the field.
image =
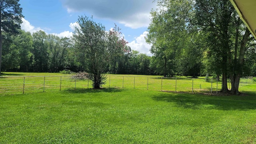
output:
[[[108, 32], [109, 41], [108, 44], [104, 44], [111, 54], [104, 66], [104, 73], [156, 74], [150, 66], [152, 57], [132, 50], [120, 37], [121, 34], [116, 34], [116, 37], [112, 36], [118, 32], [116, 29]], [[80, 72], [88, 70], [88, 59], [86, 59], [88, 52], [80, 48], [74, 38], [60, 38], [41, 30], [33, 34], [19, 30], [19, 33], [15, 35], [3, 33], [2, 46], [2, 71], [60, 72], [71, 70]], [[94, 50], [94, 52], [97, 51], [97, 49]], [[108, 54], [105, 56], [108, 57]]]

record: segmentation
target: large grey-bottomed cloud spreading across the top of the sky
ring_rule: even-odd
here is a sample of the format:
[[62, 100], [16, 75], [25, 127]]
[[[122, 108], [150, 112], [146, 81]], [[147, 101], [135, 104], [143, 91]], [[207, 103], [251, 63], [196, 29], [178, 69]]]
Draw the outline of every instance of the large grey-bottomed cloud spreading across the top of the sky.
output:
[[151, 0], [61, 0], [69, 13], [87, 12], [97, 18], [110, 19], [130, 28], [148, 27]]

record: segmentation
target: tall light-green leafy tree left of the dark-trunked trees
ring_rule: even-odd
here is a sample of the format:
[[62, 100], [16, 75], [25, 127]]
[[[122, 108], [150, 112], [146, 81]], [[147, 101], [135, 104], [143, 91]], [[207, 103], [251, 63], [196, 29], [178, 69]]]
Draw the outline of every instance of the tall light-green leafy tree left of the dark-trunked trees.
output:
[[157, 72], [164, 76], [176, 71], [177, 57], [187, 36], [190, 0], [158, 0], [158, 9], [151, 12], [146, 42], [152, 44], [151, 53], [157, 63]]

